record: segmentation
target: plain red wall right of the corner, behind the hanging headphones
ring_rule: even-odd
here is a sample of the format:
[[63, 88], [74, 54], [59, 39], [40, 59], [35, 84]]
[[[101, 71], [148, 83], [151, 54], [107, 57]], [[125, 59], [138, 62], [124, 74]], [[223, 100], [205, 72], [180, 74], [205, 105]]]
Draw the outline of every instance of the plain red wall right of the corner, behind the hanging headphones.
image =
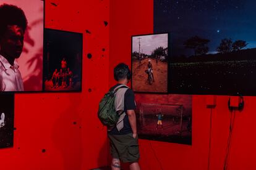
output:
[[[130, 36], [153, 33], [153, 0], [110, 2], [109, 87], [115, 83], [113, 68], [130, 65]], [[142, 169], [207, 169], [210, 109], [207, 95], [193, 95], [192, 145], [139, 140]], [[217, 96], [212, 110], [210, 169], [223, 169], [228, 144], [228, 96]], [[236, 112], [228, 161], [229, 169], [255, 169], [255, 97], [244, 97], [244, 110]]]

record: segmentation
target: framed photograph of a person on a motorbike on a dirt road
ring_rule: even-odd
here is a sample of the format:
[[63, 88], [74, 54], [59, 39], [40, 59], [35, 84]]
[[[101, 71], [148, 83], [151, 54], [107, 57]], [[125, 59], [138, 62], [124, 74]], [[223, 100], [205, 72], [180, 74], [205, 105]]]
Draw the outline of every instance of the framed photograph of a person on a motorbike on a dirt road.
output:
[[132, 89], [168, 92], [168, 33], [132, 36]]

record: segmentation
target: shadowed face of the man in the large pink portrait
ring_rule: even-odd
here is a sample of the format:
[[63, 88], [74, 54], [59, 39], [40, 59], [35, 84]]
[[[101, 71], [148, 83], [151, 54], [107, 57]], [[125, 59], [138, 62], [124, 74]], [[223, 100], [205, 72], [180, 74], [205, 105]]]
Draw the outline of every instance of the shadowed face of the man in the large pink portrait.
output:
[[20, 26], [9, 25], [7, 26], [6, 33], [0, 40], [1, 53], [18, 59], [23, 50], [24, 31]]

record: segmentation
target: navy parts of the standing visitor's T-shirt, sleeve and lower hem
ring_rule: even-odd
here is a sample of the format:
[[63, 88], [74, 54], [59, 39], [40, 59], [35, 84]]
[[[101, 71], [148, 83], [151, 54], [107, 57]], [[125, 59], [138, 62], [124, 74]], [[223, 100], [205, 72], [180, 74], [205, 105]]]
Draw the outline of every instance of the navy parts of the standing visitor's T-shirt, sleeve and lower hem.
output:
[[[117, 86], [121, 84], [116, 84], [116, 86], [112, 87], [110, 90], [113, 90]], [[119, 132], [116, 127], [112, 129], [108, 134], [112, 135], [124, 135], [132, 133], [132, 127], [130, 127], [129, 118], [127, 115], [127, 110], [135, 110], [136, 105], [134, 102], [134, 92], [132, 89], [127, 89], [126, 93], [124, 94], [124, 111], [126, 112], [126, 116], [124, 116], [124, 127]]]

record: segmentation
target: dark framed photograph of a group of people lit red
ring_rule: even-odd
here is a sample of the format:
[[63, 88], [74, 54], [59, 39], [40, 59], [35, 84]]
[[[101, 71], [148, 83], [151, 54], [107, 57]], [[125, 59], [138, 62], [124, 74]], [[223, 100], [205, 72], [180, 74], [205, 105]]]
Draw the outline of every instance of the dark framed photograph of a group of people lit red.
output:
[[83, 34], [45, 29], [44, 91], [82, 91]]

